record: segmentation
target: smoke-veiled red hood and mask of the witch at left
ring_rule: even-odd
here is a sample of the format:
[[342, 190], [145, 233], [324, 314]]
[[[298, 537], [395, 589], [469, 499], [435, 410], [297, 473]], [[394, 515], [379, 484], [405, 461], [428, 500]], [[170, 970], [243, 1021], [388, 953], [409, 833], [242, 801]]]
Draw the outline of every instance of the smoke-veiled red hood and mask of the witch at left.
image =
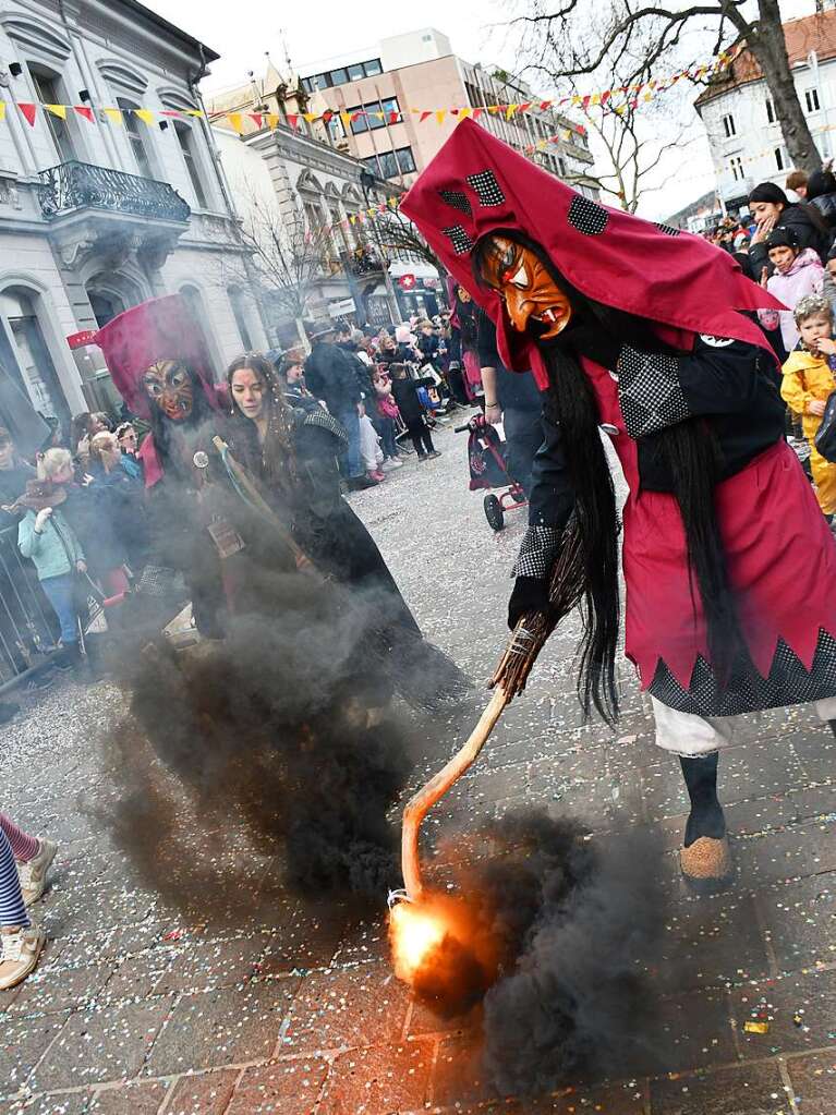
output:
[[134, 414], [149, 418], [158, 411], [169, 421], [187, 421], [196, 391], [220, 409], [200, 327], [179, 294], [126, 310], [98, 331], [96, 343]]

